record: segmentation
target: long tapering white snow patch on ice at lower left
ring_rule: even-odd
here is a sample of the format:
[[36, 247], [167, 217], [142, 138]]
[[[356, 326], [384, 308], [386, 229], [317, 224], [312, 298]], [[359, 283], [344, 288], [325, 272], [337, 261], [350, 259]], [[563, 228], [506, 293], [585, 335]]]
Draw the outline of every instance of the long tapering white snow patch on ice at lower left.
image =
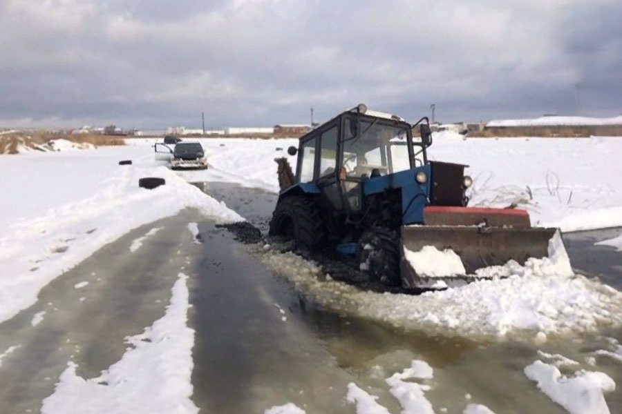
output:
[[198, 413], [190, 399], [194, 331], [186, 326], [186, 279], [180, 273], [164, 316], [129, 337], [133, 349], [100, 377], [84, 380], [69, 362], [41, 413]]

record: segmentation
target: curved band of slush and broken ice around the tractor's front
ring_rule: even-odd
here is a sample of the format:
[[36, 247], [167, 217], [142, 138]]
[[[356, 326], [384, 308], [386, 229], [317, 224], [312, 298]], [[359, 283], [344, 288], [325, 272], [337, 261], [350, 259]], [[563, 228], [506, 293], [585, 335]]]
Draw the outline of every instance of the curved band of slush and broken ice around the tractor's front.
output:
[[[596, 331], [622, 325], [622, 293], [574, 275], [564, 257], [509, 262], [485, 270], [496, 275], [460, 288], [419, 296], [361, 291], [326, 277], [316, 264], [293, 253], [259, 251], [265, 264], [324, 308], [409, 331], [469, 337], [518, 337]], [[504, 276], [499, 279], [498, 276]]]

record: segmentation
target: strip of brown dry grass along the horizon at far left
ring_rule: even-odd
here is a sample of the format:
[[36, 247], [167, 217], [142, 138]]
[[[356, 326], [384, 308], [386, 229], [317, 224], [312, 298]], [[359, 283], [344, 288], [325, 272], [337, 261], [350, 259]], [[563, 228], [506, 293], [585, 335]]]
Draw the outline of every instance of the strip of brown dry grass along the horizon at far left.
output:
[[124, 137], [95, 135], [95, 134], [66, 134], [64, 132], [15, 132], [0, 135], [0, 154], [17, 154], [19, 146], [36, 148], [53, 139], [66, 139], [77, 144], [91, 144], [93, 146], [121, 146], [125, 145]]

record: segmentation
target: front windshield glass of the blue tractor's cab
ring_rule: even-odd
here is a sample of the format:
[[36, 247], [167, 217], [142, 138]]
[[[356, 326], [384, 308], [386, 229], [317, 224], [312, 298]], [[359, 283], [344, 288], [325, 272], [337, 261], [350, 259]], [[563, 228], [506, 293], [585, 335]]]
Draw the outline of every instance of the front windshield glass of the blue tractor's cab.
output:
[[[353, 119], [353, 118], [352, 118]], [[346, 121], [341, 166], [347, 177], [377, 177], [411, 168], [408, 158], [408, 126], [384, 119], [361, 119], [360, 132]]]

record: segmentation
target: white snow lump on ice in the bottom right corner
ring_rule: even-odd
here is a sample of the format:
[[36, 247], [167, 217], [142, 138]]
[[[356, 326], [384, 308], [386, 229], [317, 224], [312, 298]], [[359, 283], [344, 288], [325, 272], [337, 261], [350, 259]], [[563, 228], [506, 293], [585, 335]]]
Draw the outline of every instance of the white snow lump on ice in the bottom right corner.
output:
[[571, 414], [610, 414], [603, 392], [614, 391], [616, 383], [605, 373], [582, 370], [566, 377], [556, 366], [538, 360], [525, 368], [525, 375]]

